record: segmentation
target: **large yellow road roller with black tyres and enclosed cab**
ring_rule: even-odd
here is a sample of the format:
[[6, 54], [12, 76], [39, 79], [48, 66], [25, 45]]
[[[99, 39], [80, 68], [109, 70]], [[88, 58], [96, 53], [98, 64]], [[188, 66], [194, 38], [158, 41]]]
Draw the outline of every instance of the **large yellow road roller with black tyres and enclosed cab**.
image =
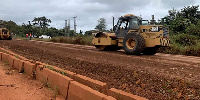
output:
[[157, 48], [170, 46], [168, 27], [149, 25], [148, 20], [133, 14], [121, 16], [113, 31], [95, 34], [93, 45], [100, 50], [123, 48], [128, 55], [154, 55]]

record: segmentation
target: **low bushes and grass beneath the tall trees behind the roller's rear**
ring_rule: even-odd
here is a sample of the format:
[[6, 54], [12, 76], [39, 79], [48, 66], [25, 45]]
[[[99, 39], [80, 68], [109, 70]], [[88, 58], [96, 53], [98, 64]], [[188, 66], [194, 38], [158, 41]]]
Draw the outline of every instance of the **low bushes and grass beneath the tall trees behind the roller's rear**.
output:
[[173, 35], [170, 38], [170, 47], [161, 47], [158, 52], [200, 56], [200, 41], [193, 35]]

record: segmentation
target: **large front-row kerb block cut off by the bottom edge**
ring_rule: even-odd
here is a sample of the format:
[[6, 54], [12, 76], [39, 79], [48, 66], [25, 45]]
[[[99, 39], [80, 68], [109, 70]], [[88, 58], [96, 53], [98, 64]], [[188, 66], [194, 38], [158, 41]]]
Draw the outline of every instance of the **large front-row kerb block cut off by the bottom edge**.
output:
[[[86, 85], [76, 81], [70, 82], [67, 100], [108, 100], [107, 98], [107, 95], [95, 91]], [[112, 98], [111, 100], [116, 99]]]

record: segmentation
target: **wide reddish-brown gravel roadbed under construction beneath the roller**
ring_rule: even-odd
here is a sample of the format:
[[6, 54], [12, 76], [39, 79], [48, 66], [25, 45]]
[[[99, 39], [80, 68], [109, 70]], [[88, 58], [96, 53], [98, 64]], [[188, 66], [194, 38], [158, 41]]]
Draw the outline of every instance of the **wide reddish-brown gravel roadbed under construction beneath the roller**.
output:
[[92, 46], [25, 40], [0, 41], [0, 47], [108, 83], [151, 100], [200, 99], [200, 57], [126, 55]]

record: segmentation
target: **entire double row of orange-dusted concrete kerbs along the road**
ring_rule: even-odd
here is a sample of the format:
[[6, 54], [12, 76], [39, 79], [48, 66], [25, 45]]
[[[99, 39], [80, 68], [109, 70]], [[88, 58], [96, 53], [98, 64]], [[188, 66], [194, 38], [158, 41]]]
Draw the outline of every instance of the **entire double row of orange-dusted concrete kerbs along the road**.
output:
[[0, 50], [4, 51], [0, 52], [1, 61], [39, 80], [44, 86], [51, 87], [67, 100], [147, 100], [118, 89], [109, 89], [107, 83], [39, 61], [34, 62], [4, 48]]

